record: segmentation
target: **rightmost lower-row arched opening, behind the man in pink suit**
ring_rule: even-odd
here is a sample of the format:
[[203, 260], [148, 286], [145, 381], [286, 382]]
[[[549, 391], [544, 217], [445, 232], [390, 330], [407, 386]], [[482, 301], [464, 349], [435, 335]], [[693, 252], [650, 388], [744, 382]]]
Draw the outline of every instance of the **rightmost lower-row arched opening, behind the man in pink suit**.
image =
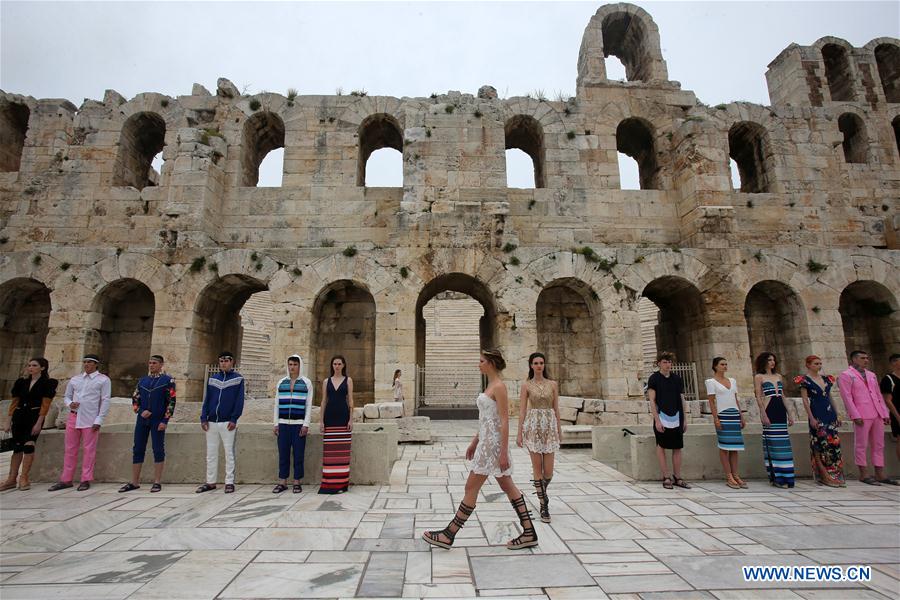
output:
[[890, 370], [888, 357], [900, 348], [900, 312], [897, 298], [875, 281], [855, 281], [841, 292], [839, 310], [844, 327], [844, 345], [869, 353], [869, 368], [876, 373]]

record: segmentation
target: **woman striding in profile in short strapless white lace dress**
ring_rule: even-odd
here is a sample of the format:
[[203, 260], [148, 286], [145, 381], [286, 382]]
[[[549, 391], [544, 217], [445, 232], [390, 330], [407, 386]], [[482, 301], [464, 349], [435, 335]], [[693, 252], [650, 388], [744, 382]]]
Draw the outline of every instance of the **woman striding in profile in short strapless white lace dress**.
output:
[[506, 361], [499, 350], [482, 350], [479, 370], [487, 376], [487, 388], [478, 394], [478, 433], [466, 449], [466, 460], [471, 460], [469, 478], [462, 502], [453, 520], [441, 531], [426, 531], [422, 538], [433, 546], [450, 548], [457, 532], [475, 510], [478, 492], [488, 477], [495, 477], [500, 489], [506, 492], [513, 505], [522, 535], [510, 540], [506, 547], [510, 550], [537, 546], [537, 533], [531, 522], [531, 512], [525, 504], [525, 496], [512, 480], [512, 463], [509, 460], [509, 396], [506, 384], [500, 378], [500, 371], [506, 368]]

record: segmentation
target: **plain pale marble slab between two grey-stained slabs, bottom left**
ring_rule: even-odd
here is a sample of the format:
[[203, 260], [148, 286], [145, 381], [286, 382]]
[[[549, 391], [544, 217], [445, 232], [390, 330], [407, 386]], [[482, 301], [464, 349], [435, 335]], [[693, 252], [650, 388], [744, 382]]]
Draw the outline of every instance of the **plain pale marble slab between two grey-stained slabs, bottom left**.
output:
[[143, 600], [212, 600], [256, 552], [194, 550], [166, 569], [131, 598]]

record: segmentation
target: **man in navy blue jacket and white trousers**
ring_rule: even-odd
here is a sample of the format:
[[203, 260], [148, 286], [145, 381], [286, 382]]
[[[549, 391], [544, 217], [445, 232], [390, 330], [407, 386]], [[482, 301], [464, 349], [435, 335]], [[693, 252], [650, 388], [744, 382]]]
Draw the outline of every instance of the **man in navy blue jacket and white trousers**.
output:
[[219, 440], [225, 447], [225, 493], [234, 491], [234, 441], [237, 420], [244, 411], [244, 378], [234, 370], [234, 355], [219, 355], [219, 372], [210, 376], [200, 409], [200, 427], [206, 432], [206, 483], [197, 493], [216, 489], [219, 476]]

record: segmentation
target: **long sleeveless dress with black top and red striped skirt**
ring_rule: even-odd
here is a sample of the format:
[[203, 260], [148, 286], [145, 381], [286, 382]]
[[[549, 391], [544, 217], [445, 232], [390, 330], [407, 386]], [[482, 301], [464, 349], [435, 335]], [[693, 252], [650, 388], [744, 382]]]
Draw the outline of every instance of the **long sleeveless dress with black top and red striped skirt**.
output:
[[340, 494], [350, 487], [350, 404], [347, 402], [347, 378], [337, 389], [328, 378], [325, 385], [328, 402], [322, 422], [325, 435], [322, 440], [322, 485], [320, 494]]

